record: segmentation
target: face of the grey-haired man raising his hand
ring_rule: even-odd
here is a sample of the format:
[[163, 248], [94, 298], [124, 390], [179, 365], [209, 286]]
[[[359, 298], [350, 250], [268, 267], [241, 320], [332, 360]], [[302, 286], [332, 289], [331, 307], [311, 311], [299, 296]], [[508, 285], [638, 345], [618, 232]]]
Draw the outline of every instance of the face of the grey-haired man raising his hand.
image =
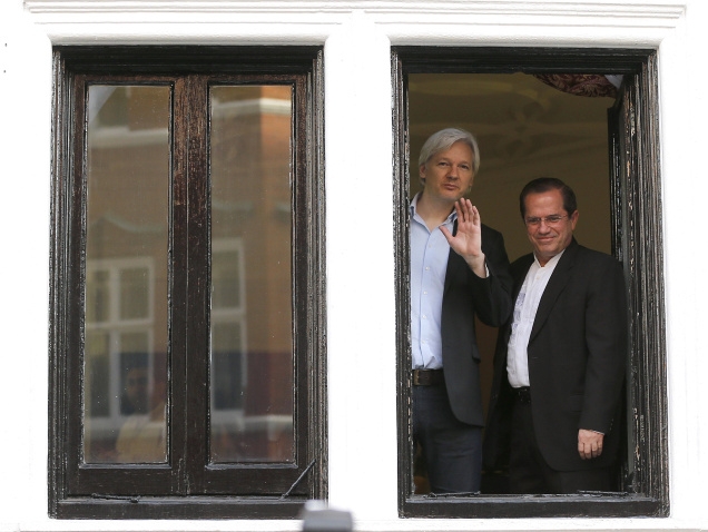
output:
[[425, 179], [424, 194], [431, 199], [455, 203], [472, 188], [473, 161], [472, 148], [462, 141], [433, 155], [420, 168], [421, 178]]

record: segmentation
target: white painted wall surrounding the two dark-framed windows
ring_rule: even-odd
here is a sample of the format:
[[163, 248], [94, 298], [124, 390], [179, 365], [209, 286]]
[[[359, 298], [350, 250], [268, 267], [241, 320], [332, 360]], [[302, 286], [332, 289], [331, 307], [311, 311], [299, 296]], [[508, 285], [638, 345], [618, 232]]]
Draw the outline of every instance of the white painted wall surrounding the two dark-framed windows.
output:
[[[0, 1], [0, 530], [299, 530], [47, 518], [51, 45], [124, 42], [325, 46], [330, 493], [357, 530], [708, 529], [707, 28], [704, 0]], [[670, 518], [397, 519], [390, 47], [407, 43], [659, 49]], [[353, 253], [362, 235], [374, 263]], [[365, 394], [364, 365], [378, 368]]]

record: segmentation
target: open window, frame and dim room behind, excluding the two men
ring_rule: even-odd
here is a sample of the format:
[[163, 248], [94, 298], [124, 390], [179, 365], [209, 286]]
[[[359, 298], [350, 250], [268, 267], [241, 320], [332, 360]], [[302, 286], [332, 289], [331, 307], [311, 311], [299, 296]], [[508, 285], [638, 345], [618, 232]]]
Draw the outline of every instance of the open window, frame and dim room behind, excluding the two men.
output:
[[[561, 93], [553, 96], [549, 91], [557, 89], [537, 79], [545, 77], [548, 81], [555, 75], [611, 76], [618, 88], [611, 97], [594, 99], [590, 106], [583, 104], [584, 110], [573, 115], [576, 111], [563, 107], [572, 106], [572, 101], [559, 104]], [[668, 453], [666, 434], [660, 428], [666, 426], [667, 408], [656, 52], [399, 47], [393, 50], [393, 83], [397, 150], [394, 201], [399, 272], [400, 514], [437, 518], [667, 515]], [[507, 107], [501, 109], [501, 105]], [[433, 112], [426, 114], [426, 107]], [[472, 196], [483, 220], [504, 234], [511, 259], [529, 252], [523, 247], [528, 245], [518, 213], [521, 187], [534, 177], [551, 174], [567, 180], [579, 195], [579, 231], [584, 230], [580, 233], [584, 235], [580, 236], [581, 243], [611, 253], [623, 263], [630, 334], [626, 444], [617, 471], [617, 492], [515, 496], [504, 493], [503, 479], [483, 480], [482, 493], [472, 496], [433, 495], [427, 494], [424, 486], [421, 489], [409, 417], [407, 206], [417, 187], [415, 164], [411, 161], [416, 160], [427, 135], [455, 126], [478, 136], [482, 166]], [[558, 141], [553, 142], [553, 138]], [[560, 145], [580, 155], [574, 161], [564, 158], [549, 170], [543, 159], [560, 160], [562, 154], [553, 151], [553, 148], [560, 149]], [[573, 178], [578, 175], [589, 177], [581, 176], [576, 183]], [[486, 338], [481, 339], [484, 344], [481, 345], [482, 373], [486, 357], [490, 376], [494, 336], [495, 332], [489, 329]], [[484, 385], [483, 382], [483, 391]]]

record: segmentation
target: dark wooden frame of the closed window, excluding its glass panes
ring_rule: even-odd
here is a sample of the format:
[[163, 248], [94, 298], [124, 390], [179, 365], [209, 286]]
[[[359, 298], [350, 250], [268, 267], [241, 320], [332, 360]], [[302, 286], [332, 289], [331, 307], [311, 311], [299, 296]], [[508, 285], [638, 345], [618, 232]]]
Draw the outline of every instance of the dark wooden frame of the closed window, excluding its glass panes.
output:
[[[322, 48], [57, 47], [53, 58], [50, 515], [295, 518], [306, 500], [327, 495]], [[82, 464], [80, 459], [86, 267], [83, 102], [88, 83], [100, 82], [167, 85], [174, 95], [167, 464]], [[200, 176], [208, 175], [205, 87], [209, 83], [293, 87], [294, 463], [209, 465], [208, 357], [185, 356], [208, 353], [209, 303], [205, 287], [209, 275], [209, 185], [208, 178]], [[188, 395], [198, 400], [187, 401]]]

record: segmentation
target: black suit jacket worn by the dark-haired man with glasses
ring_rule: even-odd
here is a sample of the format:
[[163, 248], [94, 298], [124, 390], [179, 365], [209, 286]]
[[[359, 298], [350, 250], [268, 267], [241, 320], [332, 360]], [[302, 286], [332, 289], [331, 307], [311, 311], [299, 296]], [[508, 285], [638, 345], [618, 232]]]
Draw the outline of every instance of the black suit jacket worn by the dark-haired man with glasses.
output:
[[[533, 255], [511, 266], [513, 301]], [[510, 319], [511, 322], [511, 319]], [[499, 335], [484, 442], [484, 464], [495, 469], [508, 451], [511, 397], [507, 347], [511, 323]], [[537, 442], [557, 471], [609, 465], [620, 440], [621, 390], [627, 364], [627, 302], [620, 263], [574, 239], [543, 292], [528, 347]], [[581, 460], [578, 431], [604, 434], [602, 455]]]

